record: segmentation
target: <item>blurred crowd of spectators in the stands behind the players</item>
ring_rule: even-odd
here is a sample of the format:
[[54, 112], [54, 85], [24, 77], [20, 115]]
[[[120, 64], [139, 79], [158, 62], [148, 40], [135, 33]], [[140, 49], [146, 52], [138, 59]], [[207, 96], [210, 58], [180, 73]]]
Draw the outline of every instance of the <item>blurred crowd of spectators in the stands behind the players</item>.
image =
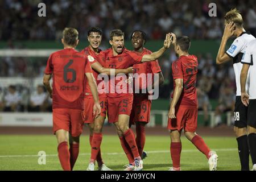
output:
[[[40, 2], [46, 3], [46, 18], [37, 16]], [[217, 5], [217, 17], [208, 15], [211, 2]], [[246, 30], [255, 35], [256, 3], [253, 0], [3, 0], [0, 1], [0, 40], [7, 42], [5, 48], [12, 49], [14, 40], [59, 40], [64, 27], [87, 32], [92, 26], [102, 28], [104, 40], [109, 39], [109, 32], [114, 28], [123, 30], [126, 39], [133, 30], [143, 30], [150, 40], [163, 39], [166, 32], [187, 35], [191, 39], [220, 40], [224, 30], [223, 17], [234, 7], [241, 11]], [[86, 36], [80, 33], [80, 40], [86, 40]], [[204, 112], [213, 110], [216, 115], [233, 110], [236, 82], [232, 62], [216, 65], [215, 57], [210, 53], [197, 56], [199, 109]], [[160, 86], [160, 98], [170, 98], [173, 89], [171, 64], [176, 59], [173, 51], [159, 59], [165, 79]], [[46, 58], [1, 57], [0, 77], [42, 77], [46, 61]], [[0, 111], [51, 110], [51, 100], [42, 86], [36, 89], [23, 87], [0, 88]], [[15, 103], [10, 104], [9, 100]], [[211, 104], [212, 100], [217, 101], [216, 106]]]

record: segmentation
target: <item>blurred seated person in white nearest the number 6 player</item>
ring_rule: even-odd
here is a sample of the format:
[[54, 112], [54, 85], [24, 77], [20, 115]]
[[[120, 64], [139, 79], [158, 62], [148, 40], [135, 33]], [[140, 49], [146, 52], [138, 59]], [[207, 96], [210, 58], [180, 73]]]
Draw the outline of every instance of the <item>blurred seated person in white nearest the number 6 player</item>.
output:
[[31, 94], [30, 102], [28, 105], [28, 111], [40, 112], [46, 111], [47, 93], [44, 90], [43, 85], [38, 85], [36, 92]]

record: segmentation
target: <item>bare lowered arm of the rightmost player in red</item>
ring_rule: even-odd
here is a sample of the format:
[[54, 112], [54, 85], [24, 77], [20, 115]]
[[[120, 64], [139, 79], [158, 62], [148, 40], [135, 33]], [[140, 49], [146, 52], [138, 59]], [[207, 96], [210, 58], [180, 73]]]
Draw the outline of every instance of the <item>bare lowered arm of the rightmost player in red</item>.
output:
[[175, 81], [174, 98], [172, 99], [170, 110], [168, 113], [168, 116], [171, 119], [176, 118], [175, 106], [177, 104], [177, 101], [179, 101], [180, 94], [183, 90], [183, 78], [177, 78], [174, 81]]

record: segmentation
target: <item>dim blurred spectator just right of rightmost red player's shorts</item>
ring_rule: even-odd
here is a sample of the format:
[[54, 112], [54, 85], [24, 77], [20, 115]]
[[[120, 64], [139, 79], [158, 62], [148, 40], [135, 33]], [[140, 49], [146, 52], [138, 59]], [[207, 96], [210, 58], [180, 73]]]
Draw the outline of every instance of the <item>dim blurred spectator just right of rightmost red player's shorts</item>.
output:
[[198, 101], [198, 110], [204, 111], [204, 126], [209, 125], [209, 113], [208, 111], [212, 109], [212, 106], [210, 105], [209, 97], [205, 92], [197, 87], [197, 101]]

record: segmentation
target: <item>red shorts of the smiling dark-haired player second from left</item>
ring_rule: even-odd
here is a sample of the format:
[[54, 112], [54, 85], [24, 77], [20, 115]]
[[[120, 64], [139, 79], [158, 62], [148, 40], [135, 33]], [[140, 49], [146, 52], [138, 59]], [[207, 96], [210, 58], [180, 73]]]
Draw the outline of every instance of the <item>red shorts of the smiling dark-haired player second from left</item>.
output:
[[[106, 117], [106, 110], [108, 108], [108, 100], [106, 95], [98, 96], [101, 106], [101, 116]], [[94, 123], [95, 116], [93, 115], [94, 100], [92, 96], [84, 97], [84, 111], [82, 112], [82, 119], [84, 123]]]

